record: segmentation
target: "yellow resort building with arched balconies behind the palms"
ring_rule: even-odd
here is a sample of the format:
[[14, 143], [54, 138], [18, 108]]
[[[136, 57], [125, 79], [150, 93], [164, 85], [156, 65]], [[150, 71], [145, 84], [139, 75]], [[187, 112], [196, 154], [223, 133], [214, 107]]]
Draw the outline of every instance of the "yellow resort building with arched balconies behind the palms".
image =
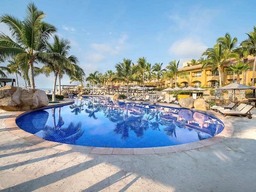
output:
[[[251, 85], [252, 81], [252, 68], [253, 68], [253, 61], [254, 57], [249, 57], [248, 58], [248, 65], [251, 67], [247, 72], [246, 72], [246, 85]], [[230, 64], [233, 64], [236, 62], [235, 59], [231, 59], [230, 61], [226, 62], [225, 65], [221, 68], [221, 74], [218, 72], [214, 73], [214, 71], [211, 70], [211, 68], [205, 68], [201, 69], [202, 65], [194, 65], [194, 66], [189, 66], [187, 67], [187, 62], [183, 63], [183, 67], [180, 68], [179, 70], [186, 70], [188, 72], [187, 77], [177, 77], [177, 83], [179, 87], [187, 87], [187, 86], [192, 86], [192, 87], [215, 87], [218, 85], [219, 82], [219, 75], [221, 75], [222, 79], [222, 86], [228, 85], [232, 83], [233, 80], [233, 75], [228, 75], [227, 68]], [[236, 75], [235, 75], [235, 82], [236, 82]], [[243, 83], [243, 75], [240, 75], [240, 83]], [[254, 83], [256, 83], [256, 76], [254, 79]], [[145, 81], [145, 84], [147, 84], [147, 81]], [[151, 80], [149, 85], [157, 85], [157, 80], [156, 82], [154, 80]], [[175, 87], [175, 80], [174, 79], [169, 79], [169, 80], [162, 80], [159, 82], [158, 87], [169, 87], [171, 84], [171, 87]]]

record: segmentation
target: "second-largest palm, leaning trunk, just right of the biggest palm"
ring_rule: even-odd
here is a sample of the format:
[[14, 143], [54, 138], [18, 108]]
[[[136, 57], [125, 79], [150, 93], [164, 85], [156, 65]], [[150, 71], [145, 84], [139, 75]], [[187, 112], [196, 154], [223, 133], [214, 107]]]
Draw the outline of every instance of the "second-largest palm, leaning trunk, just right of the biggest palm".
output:
[[[70, 50], [70, 41], [68, 39], [59, 38], [57, 35], [53, 37], [53, 43], [46, 43], [46, 51], [49, 53], [57, 53], [62, 60], [57, 60], [54, 62], [49, 62], [47, 60], [41, 60], [45, 65], [42, 68], [42, 71], [46, 76], [49, 76], [53, 72], [53, 88], [52, 88], [52, 101], [56, 101], [55, 91], [56, 91], [56, 82], [58, 75], [63, 76], [64, 72], [68, 74], [73, 74], [77, 71], [80, 74], [84, 75], [84, 70], [77, 66], [78, 59], [76, 56], [71, 55], [68, 57], [68, 52]], [[60, 83], [60, 82], [59, 82]]]

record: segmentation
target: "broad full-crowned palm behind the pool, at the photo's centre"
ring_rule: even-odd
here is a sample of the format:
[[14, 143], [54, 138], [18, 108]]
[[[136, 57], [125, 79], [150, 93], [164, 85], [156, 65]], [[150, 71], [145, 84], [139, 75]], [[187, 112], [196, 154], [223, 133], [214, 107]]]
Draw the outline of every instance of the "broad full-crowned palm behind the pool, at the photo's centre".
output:
[[116, 64], [116, 75], [113, 77], [113, 80], [121, 80], [127, 84], [127, 94], [129, 94], [129, 82], [136, 80], [134, 78], [134, 73], [136, 68], [132, 68], [132, 60], [123, 59], [123, 62]]

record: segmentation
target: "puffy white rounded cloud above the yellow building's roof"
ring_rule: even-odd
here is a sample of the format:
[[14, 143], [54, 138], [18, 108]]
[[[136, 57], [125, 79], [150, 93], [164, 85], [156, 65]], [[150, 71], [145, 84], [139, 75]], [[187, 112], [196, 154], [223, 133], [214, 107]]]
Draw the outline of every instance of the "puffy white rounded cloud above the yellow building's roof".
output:
[[199, 58], [207, 49], [207, 46], [199, 39], [185, 38], [175, 41], [169, 49], [169, 52], [177, 57]]

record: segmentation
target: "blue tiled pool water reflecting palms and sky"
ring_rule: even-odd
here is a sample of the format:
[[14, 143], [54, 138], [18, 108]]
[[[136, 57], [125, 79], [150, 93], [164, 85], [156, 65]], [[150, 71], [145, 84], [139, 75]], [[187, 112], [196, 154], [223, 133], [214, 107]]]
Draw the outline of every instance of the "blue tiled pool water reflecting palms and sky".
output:
[[17, 118], [18, 126], [45, 140], [82, 146], [147, 148], [204, 140], [224, 126], [216, 117], [184, 108], [84, 97], [74, 104]]

